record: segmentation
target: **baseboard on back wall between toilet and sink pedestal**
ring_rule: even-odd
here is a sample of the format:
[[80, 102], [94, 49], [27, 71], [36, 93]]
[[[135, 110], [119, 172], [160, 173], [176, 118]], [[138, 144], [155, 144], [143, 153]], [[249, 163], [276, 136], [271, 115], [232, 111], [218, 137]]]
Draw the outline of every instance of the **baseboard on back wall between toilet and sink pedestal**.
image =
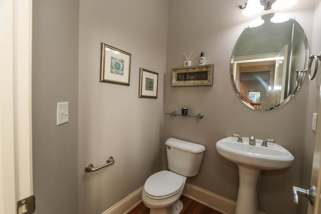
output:
[[[191, 183], [185, 184], [183, 195], [224, 214], [232, 214], [235, 210], [236, 202], [234, 200], [230, 200]], [[259, 214], [265, 213], [259, 211]]]

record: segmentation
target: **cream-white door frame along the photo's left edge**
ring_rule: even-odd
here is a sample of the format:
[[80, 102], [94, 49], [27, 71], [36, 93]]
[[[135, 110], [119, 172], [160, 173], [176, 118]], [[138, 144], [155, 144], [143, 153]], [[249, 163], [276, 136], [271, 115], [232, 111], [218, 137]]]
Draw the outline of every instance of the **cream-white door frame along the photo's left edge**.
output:
[[0, 2], [0, 213], [33, 194], [32, 0]]

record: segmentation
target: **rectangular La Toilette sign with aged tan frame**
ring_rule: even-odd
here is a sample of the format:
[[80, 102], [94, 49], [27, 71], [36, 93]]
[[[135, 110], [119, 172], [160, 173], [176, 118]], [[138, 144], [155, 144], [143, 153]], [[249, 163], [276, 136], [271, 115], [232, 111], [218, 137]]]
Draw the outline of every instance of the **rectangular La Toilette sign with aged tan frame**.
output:
[[214, 65], [172, 69], [172, 86], [212, 86]]

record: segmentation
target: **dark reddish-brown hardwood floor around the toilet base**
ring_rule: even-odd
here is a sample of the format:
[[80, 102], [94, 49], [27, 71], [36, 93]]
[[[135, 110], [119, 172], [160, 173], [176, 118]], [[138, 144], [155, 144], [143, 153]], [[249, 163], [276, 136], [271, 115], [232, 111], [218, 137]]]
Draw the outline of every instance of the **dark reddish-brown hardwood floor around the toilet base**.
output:
[[[184, 204], [180, 214], [222, 214], [219, 211], [211, 209], [195, 200], [192, 200], [184, 195], [180, 198]], [[141, 202], [138, 206], [132, 209], [128, 214], [149, 214], [149, 208]]]

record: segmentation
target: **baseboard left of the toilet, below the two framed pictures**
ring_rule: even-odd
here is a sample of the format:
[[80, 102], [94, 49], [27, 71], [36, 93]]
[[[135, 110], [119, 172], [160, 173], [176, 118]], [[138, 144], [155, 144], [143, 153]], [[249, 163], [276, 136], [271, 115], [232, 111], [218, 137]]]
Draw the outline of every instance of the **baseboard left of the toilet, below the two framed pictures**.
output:
[[101, 214], [119, 214], [119, 213], [128, 213], [130, 210], [132, 210], [135, 206], [137, 206], [142, 200], [141, 200], [141, 192], [142, 192], [143, 186], [138, 188], [136, 191], [107, 209]]

